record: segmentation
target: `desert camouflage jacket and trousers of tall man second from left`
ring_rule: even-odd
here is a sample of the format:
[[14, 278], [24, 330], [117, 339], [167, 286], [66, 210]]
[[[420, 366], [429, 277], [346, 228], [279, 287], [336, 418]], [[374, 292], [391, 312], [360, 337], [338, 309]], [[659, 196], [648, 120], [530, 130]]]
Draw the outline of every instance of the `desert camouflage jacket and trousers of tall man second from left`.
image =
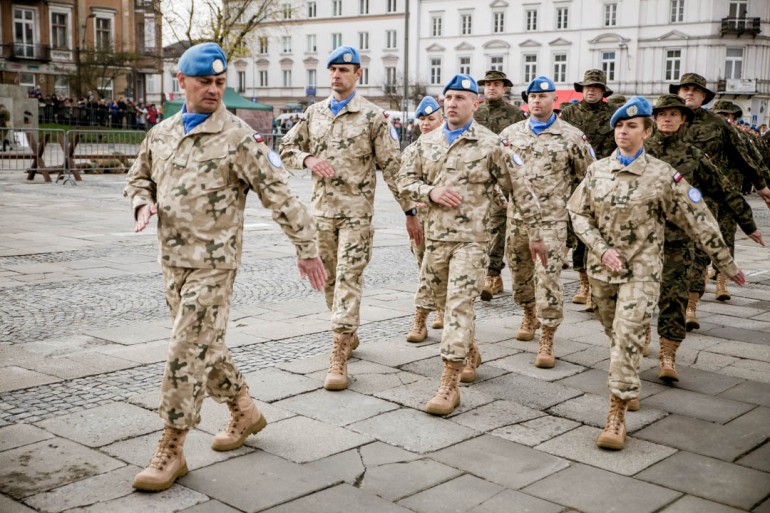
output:
[[313, 215], [329, 279], [324, 293], [332, 329], [353, 334], [360, 324], [364, 269], [372, 256], [375, 166], [406, 211], [414, 205], [399, 197], [401, 164], [398, 137], [384, 111], [356, 93], [335, 116], [331, 97], [311, 105], [283, 137], [281, 157], [293, 169], [307, 157], [326, 160], [334, 176], [313, 173]]

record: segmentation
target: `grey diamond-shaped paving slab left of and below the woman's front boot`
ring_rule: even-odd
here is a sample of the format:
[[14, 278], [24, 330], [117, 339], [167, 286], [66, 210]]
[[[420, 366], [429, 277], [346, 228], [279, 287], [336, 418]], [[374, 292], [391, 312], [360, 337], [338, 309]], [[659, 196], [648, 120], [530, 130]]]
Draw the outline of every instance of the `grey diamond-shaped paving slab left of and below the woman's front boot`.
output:
[[489, 435], [447, 447], [430, 457], [513, 489], [527, 486], [569, 466], [561, 458]]

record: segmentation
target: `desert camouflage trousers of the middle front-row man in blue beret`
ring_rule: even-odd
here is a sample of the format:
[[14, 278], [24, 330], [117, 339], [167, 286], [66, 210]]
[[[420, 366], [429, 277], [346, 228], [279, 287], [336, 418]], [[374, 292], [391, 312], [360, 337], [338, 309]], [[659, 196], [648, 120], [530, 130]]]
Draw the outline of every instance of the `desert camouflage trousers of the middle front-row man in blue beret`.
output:
[[420, 287], [430, 287], [436, 307], [444, 311], [441, 356], [447, 360], [464, 360], [471, 347], [476, 329], [473, 303], [484, 287], [488, 265], [486, 243], [426, 243], [422, 263], [425, 279]]

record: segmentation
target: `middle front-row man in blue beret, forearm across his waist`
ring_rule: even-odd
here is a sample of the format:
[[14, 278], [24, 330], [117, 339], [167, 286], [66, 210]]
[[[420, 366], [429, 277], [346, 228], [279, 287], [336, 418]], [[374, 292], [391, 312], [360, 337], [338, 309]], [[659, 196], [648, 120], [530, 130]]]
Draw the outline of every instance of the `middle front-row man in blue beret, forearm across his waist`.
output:
[[540, 208], [506, 143], [473, 120], [478, 88], [468, 75], [444, 87], [446, 123], [424, 135], [404, 153], [399, 187], [430, 205], [425, 220], [422, 286], [430, 286], [445, 312], [441, 337], [444, 372], [425, 411], [451, 413], [460, 404], [459, 381], [476, 379], [481, 355], [474, 340], [473, 303], [487, 269], [485, 230], [495, 185], [512, 194], [529, 229], [530, 250], [546, 263], [540, 237]]

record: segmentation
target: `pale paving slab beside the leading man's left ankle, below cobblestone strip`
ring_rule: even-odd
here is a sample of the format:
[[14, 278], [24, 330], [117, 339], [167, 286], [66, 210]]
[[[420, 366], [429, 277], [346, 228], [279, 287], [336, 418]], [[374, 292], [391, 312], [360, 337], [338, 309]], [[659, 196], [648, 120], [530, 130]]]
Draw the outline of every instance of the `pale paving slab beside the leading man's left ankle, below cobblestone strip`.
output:
[[44, 420], [38, 426], [88, 447], [144, 435], [161, 427], [158, 416], [128, 403], [110, 403]]

